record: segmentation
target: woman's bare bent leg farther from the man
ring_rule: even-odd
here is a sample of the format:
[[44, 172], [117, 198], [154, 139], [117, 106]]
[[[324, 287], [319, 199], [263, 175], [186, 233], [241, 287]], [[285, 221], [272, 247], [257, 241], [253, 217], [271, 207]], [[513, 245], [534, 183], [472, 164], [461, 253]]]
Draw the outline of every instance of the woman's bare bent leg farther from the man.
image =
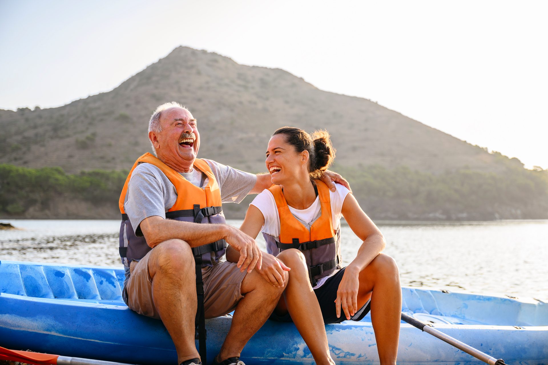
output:
[[371, 298], [371, 321], [381, 364], [396, 364], [402, 288], [396, 262], [383, 253], [359, 273], [358, 308]]

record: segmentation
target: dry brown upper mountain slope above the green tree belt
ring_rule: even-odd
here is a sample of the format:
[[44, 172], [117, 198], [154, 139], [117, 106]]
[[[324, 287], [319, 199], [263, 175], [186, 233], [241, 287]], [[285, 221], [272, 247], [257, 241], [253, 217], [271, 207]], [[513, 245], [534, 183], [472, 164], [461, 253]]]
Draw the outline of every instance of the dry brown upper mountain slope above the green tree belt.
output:
[[247, 171], [265, 170], [266, 143], [284, 125], [327, 129], [336, 164], [356, 169], [499, 173], [523, 166], [375, 102], [319, 90], [282, 69], [239, 65], [187, 47], [174, 49], [112, 91], [58, 108], [0, 110], [0, 161], [60, 166], [69, 173], [127, 170], [150, 151], [150, 114], [167, 101], [186, 105], [198, 119], [199, 157]]

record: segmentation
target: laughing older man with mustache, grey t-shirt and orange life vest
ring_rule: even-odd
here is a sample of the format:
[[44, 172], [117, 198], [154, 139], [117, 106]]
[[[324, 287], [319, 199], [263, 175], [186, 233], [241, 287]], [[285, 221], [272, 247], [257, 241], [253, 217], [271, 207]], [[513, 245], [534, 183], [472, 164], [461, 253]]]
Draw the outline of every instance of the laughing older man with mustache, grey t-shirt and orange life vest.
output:
[[[197, 303], [203, 303], [206, 318], [234, 310], [213, 363], [241, 365], [244, 345], [270, 316], [284, 287], [273, 287], [253, 270], [260, 269], [261, 252], [251, 237], [224, 224], [221, 202], [261, 192], [270, 187], [270, 175], [197, 159], [197, 121], [178, 103], [156, 109], [149, 138], [156, 157], [144, 154], [136, 161], [119, 202], [124, 301], [139, 314], [162, 320], [184, 365], [201, 364]], [[344, 181], [328, 173], [324, 181], [332, 188], [332, 179]], [[238, 263], [220, 260], [226, 244], [240, 253]]]

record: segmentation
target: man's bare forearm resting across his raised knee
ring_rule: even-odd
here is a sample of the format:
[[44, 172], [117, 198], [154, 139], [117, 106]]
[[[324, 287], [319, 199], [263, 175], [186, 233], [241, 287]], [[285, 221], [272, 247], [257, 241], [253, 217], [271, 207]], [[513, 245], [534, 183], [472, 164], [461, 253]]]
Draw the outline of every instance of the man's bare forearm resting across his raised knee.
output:
[[140, 227], [150, 247], [174, 238], [186, 241], [190, 247], [197, 247], [224, 239], [230, 229], [226, 224], [181, 222], [158, 216], [146, 218]]

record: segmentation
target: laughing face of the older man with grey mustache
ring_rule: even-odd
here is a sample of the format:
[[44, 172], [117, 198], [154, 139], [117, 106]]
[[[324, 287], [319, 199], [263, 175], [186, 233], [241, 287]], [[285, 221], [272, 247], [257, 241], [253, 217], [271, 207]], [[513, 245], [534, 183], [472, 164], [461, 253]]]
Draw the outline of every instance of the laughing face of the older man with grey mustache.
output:
[[159, 159], [184, 164], [193, 163], [198, 154], [199, 133], [196, 119], [183, 108], [173, 107], [162, 112], [161, 132], [150, 136]]

